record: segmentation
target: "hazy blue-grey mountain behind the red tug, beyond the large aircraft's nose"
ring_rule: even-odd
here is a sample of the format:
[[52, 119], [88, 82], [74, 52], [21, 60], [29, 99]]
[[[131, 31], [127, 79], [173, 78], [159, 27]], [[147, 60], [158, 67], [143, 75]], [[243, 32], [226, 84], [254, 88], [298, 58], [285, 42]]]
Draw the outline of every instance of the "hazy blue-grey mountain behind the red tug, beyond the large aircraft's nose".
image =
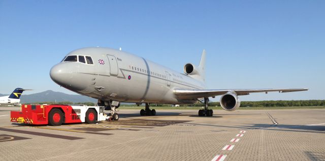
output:
[[35, 103], [35, 102], [93, 102], [96, 103], [96, 99], [92, 99], [88, 96], [78, 94], [66, 94], [62, 92], [55, 92], [47, 90], [34, 94], [22, 94], [20, 96], [20, 103]]

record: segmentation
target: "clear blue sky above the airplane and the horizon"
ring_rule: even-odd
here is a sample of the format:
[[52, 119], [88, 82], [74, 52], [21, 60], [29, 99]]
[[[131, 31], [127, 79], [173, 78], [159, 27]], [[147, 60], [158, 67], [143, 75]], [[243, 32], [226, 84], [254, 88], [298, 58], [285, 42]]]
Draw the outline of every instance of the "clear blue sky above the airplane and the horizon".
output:
[[[0, 93], [73, 93], [49, 71], [70, 51], [116, 48], [182, 72], [207, 51], [209, 89], [310, 88], [243, 101], [325, 99], [325, 1], [2, 1]], [[215, 101], [217, 101], [215, 99]]]

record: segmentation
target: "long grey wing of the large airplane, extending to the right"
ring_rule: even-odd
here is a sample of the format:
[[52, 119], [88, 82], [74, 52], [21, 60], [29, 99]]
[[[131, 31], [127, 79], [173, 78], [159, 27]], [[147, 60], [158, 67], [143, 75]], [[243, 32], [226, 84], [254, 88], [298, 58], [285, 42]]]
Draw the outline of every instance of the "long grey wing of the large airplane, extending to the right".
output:
[[227, 92], [236, 92], [237, 95], [248, 95], [256, 92], [295, 92], [304, 91], [307, 88], [283, 88], [283, 89], [175, 89], [174, 94], [180, 99], [209, 98], [216, 95], [223, 95]]

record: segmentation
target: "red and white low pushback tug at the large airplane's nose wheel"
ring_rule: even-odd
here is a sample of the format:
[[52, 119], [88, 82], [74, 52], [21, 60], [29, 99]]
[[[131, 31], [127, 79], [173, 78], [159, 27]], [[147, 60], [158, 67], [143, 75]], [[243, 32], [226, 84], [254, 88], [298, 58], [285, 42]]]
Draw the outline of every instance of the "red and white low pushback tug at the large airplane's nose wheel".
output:
[[11, 122], [49, 124], [105, 121], [105, 107], [69, 105], [21, 105], [20, 111], [11, 111]]

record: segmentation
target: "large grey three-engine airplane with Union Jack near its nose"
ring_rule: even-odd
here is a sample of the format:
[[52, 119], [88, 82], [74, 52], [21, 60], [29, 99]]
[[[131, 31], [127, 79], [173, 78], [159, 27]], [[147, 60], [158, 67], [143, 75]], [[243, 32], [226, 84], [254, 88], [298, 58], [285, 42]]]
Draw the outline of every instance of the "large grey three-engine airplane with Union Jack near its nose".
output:
[[141, 115], [155, 115], [150, 104], [204, 104], [199, 116], [213, 116], [208, 109], [209, 98], [221, 95], [224, 110], [234, 111], [240, 106], [239, 95], [254, 92], [294, 92], [306, 88], [281, 89], [206, 89], [206, 51], [203, 50], [199, 66], [186, 63], [184, 73], [158, 65], [143, 57], [121, 50], [104, 47], [81, 48], [68, 53], [50, 70], [51, 79], [58, 85], [76, 93], [98, 99], [99, 106], [111, 110], [118, 120], [116, 109], [120, 102], [145, 103]]

